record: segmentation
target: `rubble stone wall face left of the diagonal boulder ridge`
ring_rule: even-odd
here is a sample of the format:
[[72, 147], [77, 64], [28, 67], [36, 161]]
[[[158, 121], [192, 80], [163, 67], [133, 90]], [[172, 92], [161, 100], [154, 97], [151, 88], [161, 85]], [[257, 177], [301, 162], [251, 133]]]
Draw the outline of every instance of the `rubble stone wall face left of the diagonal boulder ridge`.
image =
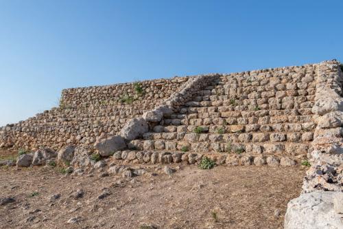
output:
[[141, 116], [179, 91], [188, 77], [147, 80], [62, 91], [60, 107], [0, 129], [0, 148], [60, 149], [93, 145], [115, 135], [131, 118]]

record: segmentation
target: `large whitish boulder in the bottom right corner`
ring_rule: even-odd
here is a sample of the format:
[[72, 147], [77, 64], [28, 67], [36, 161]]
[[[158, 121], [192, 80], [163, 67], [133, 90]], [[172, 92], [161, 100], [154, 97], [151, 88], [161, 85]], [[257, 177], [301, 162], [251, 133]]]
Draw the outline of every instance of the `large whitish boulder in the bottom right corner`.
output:
[[[314, 192], [300, 195], [287, 204], [285, 229], [340, 229], [343, 222], [335, 211], [335, 192]], [[339, 209], [339, 206], [338, 206]]]

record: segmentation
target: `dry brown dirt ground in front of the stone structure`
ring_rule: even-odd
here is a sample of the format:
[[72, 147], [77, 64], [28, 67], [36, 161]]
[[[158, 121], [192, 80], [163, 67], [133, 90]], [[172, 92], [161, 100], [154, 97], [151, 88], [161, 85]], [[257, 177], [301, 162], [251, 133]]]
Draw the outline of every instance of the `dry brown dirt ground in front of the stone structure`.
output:
[[283, 228], [307, 169], [178, 164], [167, 175], [162, 165], [132, 167], [147, 172], [123, 178], [0, 167], [0, 198], [15, 199], [0, 206], [0, 228]]

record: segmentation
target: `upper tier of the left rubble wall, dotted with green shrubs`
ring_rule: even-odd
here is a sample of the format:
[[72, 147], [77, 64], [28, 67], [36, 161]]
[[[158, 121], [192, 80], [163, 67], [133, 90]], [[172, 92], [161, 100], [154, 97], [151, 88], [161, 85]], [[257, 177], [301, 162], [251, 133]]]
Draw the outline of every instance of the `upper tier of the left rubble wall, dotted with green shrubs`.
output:
[[[121, 100], [132, 100], [133, 104], [147, 105], [152, 109], [187, 82], [188, 77], [145, 80], [134, 83], [97, 87], [78, 87], [62, 90], [62, 107], [88, 107], [89, 105], [118, 105]], [[141, 88], [141, 89], [139, 89]]]

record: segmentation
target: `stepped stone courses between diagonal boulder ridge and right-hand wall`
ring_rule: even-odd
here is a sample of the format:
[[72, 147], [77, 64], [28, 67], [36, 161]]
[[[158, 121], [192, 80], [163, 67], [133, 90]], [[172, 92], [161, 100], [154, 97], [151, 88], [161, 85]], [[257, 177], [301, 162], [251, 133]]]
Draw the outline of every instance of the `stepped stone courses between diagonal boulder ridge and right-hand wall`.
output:
[[316, 128], [316, 71], [305, 65], [217, 76], [130, 146], [301, 161]]

